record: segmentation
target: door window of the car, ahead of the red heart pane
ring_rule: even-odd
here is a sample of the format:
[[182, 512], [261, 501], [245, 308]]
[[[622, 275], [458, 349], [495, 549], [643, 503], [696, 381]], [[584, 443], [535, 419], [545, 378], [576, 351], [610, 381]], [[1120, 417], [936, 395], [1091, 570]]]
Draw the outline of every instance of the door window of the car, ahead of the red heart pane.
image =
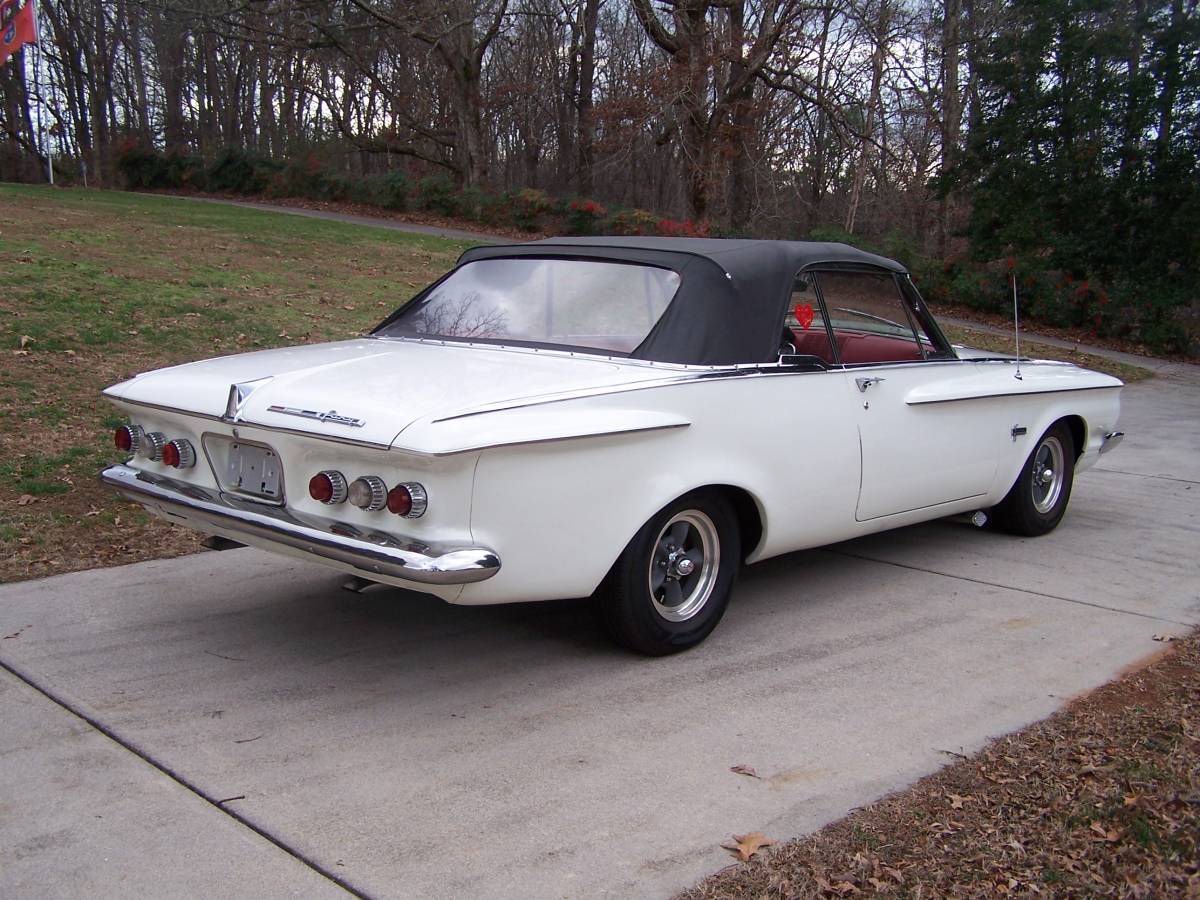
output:
[[929, 335], [922, 329], [918, 340], [913, 331], [892, 275], [827, 271], [816, 277], [845, 365], [904, 362], [925, 359], [932, 353]]

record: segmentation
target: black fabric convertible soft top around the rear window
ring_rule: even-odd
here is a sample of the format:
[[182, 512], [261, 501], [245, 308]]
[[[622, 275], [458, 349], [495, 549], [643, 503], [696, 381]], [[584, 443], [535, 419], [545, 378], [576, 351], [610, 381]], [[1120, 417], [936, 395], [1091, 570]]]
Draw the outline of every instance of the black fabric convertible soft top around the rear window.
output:
[[716, 238], [550, 238], [473, 247], [458, 262], [502, 257], [620, 259], [673, 269], [680, 276], [678, 293], [629, 355], [696, 365], [774, 361], [792, 283], [804, 269], [907, 272], [846, 244]]

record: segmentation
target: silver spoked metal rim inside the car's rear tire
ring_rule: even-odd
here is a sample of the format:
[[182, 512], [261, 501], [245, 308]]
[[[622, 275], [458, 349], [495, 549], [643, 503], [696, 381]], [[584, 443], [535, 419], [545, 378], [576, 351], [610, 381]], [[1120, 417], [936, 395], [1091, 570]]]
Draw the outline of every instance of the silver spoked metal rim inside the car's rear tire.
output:
[[704, 608], [721, 563], [716, 526], [700, 510], [677, 512], [654, 541], [649, 588], [654, 611], [686, 622]]

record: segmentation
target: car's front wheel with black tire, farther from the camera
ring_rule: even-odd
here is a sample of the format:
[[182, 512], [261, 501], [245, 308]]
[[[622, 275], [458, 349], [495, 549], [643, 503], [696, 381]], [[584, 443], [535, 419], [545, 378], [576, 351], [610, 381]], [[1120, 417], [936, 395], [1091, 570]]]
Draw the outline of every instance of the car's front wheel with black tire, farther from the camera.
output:
[[1055, 422], [1038, 438], [1012, 490], [992, 506], [991, 521], [1028, 538], [1052, 532], [1067, 512], [1074, 481], [1075, 438], [1066, 422]]

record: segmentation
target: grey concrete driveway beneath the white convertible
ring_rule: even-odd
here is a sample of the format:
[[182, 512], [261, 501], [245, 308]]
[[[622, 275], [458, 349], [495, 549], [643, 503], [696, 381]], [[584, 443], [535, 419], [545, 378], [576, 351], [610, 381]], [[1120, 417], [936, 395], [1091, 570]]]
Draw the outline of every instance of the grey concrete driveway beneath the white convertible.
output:
[[0, 588], [0, 895], [667, 895], [1200, 622], [1196, 370], [1123, 427], [1054, 534], [775, 559], [672, 659], [253, 550]]

